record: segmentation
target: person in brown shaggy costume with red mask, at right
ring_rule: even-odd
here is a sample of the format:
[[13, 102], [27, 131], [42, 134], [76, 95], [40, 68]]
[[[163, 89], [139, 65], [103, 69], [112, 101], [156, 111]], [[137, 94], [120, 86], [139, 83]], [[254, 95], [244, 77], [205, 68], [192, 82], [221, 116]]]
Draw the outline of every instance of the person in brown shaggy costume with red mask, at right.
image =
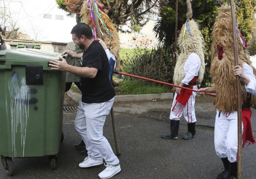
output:
[[216, 93], [217, 114], [215, 117], [214, 145], [221, 158], [224, 171], [217, 179], [237, 178], [237, 92], [236, 76], [241, 81], [242, 138], [245, 144], [255, 144], [252, 136], [251, 105], [255, 106], [256, 79], [247, 47], [238, 27], [236, 27], [238, 62], [234, 64], [234, 43], [232, 18], [229, 6], [222, 5], [212, 31], [211, 76], [214, 87], [200, 88], [199, 94]]

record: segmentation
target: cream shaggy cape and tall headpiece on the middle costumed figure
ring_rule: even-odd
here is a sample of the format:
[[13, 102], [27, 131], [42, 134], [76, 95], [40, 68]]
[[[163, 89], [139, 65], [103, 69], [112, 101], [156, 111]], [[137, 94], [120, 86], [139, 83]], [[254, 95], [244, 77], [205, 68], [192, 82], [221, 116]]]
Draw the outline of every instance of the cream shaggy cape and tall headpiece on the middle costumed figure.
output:
[[[191, 19], [192, 8], [190, 0], [187, 1], [187, 8], [187, 19]], [[177, 59], [176, 66], [174, 68], [173, 82], [175, 85], [179, 85], [181, 80], [185, 77], [183, 68], [186, 60], [188, 59], [188, 56], [193, 52], [196, 53], [201, 60], [201, 66], [197, 81], [202, 82], [204, 78], [204, 39], [199, 31], [198, 23], [195, 20], [188, 20], [186, 23], [188, 23], [188, 27], [192, 33], [192, 37], [188, 29], [185, 30], [186, 24], [184, 24], [181, 28], [180, 36], [178, 38], [178, 46], [181, 53]], [[183, 36], [184, 30], [185, 35]]]

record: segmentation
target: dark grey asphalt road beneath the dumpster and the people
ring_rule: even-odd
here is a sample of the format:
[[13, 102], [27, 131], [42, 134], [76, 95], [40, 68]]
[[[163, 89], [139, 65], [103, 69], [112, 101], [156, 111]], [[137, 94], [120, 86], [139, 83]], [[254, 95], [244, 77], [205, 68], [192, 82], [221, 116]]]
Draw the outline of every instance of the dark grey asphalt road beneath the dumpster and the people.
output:
[[[214, 126], [215, 109], [211, 97], [198, 97], [196, 101], [197, 124]], [[172, 101], [142, 101], [115, 103], [118, 140], [122, 155], [119, 157], [122, 171], [113, 179], [215, 179], [222, 171], [222, 164], [214, 151], [213, 130], [197, 127], [196, 138], [168, 140], [159, 134], [169, 131], [169, 108]], [[65, 105], [75, 105], [66, 101]], [[96, 179], [104, 166], [82, 169], [78, 163], [85, 158], [73, 146], [81, 138], [74, 129], [76, 113], [64, 113], [65, 139], [60, 145], [57, 169], [50, 169], [48, 157], [14, 159], [16, 172], [8, 177], [0, 167], [1, 179]], [[253, 109], [252, 125], [256, 134], [256, 111]], [[180, 122], [179, 134], [187, 130], [186, 121]], [[104, 135], [115, 152], [110, 116], [104, 127]], [[256, 146], [243, 150], [243, 175], [254, 176]]]

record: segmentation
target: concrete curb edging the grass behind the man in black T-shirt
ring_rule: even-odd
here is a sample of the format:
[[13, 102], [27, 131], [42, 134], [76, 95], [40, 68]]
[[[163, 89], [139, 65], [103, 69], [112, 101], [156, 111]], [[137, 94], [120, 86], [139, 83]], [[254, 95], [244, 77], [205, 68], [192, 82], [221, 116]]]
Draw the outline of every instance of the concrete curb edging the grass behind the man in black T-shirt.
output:
[[[77, 103], [80, 102], [82, 95], [74, 92], [73, 90], [68, 91], [68, 96], [71, 97]], [[163, 94], [137, 94], [137, 95], [116, 95], [115, 102], [125, 101], [144, 101], [144, 100], [164, 100], [173, 99], [172, 93]]]

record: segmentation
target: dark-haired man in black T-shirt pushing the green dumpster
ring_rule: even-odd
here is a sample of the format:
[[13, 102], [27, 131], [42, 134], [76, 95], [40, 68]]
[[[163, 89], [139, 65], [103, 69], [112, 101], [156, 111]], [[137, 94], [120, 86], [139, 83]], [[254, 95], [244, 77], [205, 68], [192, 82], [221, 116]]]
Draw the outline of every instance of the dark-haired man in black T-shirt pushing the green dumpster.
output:
[[81, 77], [82, 100], [78, 106], [75, 128], [84, 140], [88, 157], [79, 163], [79, 167], [101, 165], [104, 159], [106, 168], [100, 172], [99, 177], [110, 178], [119, 173], [121, 167], [108, 140], [103, 136], [103, 125], [115, 96], [108, 79], [108, 56], [100, 43], [93, 39], [92, 29], [87, 24], [77, 24], [71, 34], [74, 42], [84, 49], [81, 67], [68, 65], [62, 57], [61, 61], [52, 59], [49, 65], [53, 70], [69, 71]]

